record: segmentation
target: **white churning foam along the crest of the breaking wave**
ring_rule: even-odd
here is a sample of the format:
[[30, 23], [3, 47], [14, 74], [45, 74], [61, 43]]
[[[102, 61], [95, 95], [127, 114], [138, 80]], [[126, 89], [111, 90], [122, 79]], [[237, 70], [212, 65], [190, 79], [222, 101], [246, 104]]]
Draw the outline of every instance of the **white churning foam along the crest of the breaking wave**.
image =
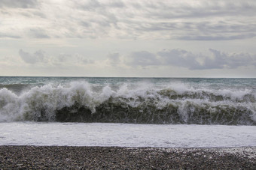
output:
[[64, 85], [35, 86], [20, 95], [2, 88], [0, 121], [37, 121], [42, 115], [45, 118], [41, 121], [55, 121], [57, 110], [74, 105], [87, 107], [94, 113], [97, 106], [110, 100], [111, 97], [116, 100], [117, 105], [121, 102], [139, 110], [148, 106], [165, 109], [172, 104], [178, 109], [178, 115], [184, 122], [190, 118], [190, 112], [198, 112], [202, 109], [221, 112], [221, 108], [227, 107], [235, 109], [230, 112], [249, 112], [251, 119], [256, 121], [255, 95], [254, 91], [247, 88], [212, 89], [205, 86], [194, 87], [181, 82], [170, 84], [123, 82], [114, 87], [108, 84], [70, 82]]

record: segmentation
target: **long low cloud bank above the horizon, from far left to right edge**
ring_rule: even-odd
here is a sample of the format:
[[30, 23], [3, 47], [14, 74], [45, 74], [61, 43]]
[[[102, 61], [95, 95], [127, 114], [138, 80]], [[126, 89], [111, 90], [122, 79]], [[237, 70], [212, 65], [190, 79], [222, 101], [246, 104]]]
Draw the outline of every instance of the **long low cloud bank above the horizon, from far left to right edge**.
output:
[[45, 67], [78, 66], [87, 64], [99, 66], [105, 63], [104, 67], [123, 68], [148, 68], [148, 67], [183, 67], [189, 70], [212, 70], [212, 69], [236, 69], [238, 67], [255, 67], [256, 55], [249, 53], [227, 53], [217, 49], [209, 49], [209, 55], [194, 54], [184, 49], [163, 49], [159, 52], [131, 52], [121, 55], [119, 52], [109, 53], [106, 59], [92, 60], [84, 55], [64, 54], [56, 56], [47, 55], [47, 52], [38, 50], [29, 53], [20, 49], [20, 58], [26, 64], [43, 64]]

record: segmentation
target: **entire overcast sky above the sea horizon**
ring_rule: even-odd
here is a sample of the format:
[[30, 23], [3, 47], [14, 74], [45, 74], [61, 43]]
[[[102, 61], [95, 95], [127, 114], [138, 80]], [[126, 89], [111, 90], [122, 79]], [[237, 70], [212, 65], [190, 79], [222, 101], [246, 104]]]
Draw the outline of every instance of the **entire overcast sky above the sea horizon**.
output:
[[254, 0], [0, 0], [0, 76], [254, 77]]

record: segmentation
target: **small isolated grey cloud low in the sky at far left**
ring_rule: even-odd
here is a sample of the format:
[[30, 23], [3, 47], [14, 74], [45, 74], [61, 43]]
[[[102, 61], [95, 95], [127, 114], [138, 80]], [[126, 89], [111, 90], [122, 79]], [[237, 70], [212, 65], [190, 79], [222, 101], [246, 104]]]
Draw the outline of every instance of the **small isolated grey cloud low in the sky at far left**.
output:
[[20, 49], [19, 55], [23, 59], [23, 61], [29, 64], [35, 64], [45, 61], [45, 52], [42, 50], [36, 51], [34, 54], [30, 54], [29, 52], [24, 52], [22, 49]]

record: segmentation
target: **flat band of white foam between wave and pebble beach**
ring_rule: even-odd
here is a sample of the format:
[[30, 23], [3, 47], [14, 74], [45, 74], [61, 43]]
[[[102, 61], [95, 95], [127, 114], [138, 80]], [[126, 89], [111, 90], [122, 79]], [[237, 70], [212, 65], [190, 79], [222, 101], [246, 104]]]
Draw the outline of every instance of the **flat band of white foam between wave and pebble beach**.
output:
[[256, 126], [0, 123], [0, 145], [163, 148], [256, 146]]

